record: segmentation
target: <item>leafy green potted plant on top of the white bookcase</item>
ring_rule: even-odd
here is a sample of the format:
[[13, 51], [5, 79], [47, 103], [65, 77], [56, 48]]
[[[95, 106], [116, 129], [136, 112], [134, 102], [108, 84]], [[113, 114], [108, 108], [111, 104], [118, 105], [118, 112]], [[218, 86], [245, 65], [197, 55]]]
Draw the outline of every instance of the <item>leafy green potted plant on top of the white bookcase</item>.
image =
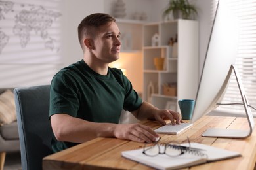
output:
[[193, 19], [196, 14], [196, 7], [191, 5], [188, 0], [169, 0], [169, 5], [163, 11], [163, 18], [167, 17], [169, 20], [169, 15], [173, 14], [174, 19]]

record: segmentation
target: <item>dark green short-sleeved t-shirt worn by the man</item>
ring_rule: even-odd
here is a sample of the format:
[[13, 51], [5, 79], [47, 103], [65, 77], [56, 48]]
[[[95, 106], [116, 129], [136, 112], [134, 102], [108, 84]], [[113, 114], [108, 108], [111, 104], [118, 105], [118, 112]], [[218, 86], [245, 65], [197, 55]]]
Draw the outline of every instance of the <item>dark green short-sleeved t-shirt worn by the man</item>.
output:
[[[106, 76], [99, 75], [81, 60], [53, 77], [49, 116], [66, 113], [91, 122], [117, 124], [122, 109], [133, 111], [141, 104], [142, 99], [121, 70], [108, 68]], [[76, 144], [57, 141], [53, 135], [53, 152]]]

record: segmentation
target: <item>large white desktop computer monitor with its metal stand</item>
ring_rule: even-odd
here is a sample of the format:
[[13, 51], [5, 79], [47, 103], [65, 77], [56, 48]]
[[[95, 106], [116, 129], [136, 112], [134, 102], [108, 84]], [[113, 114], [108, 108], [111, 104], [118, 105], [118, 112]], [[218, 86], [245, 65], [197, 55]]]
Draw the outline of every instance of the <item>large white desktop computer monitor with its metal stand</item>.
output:
[[203, 115], [219, 106], [218, 103], [221, 103], [224, 97], [233, 71], [238, 82], [242, 101], [244, 102], [249, 130], [207, 129], [207, 131], [203, 133], [203, 136], [245, 138], [252, 133], [254, 126], [253, 116], [247, 107], [244, 88], [234, 66], [238, 52], [238, 31], [238, 17], [232, 9], [230, 9], [226, 1], [219, 0], [207, 46], [191, 122], [195, 122]]

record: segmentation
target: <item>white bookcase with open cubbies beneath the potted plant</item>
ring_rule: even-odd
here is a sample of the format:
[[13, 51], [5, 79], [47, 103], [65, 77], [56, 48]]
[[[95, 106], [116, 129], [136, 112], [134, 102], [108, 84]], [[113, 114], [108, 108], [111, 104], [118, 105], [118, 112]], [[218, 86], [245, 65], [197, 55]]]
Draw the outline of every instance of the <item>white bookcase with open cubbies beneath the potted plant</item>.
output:
[[[156, 33], [158, 44], [152, 46]], [[143, 99], [160, 109], [168, 106], [179, 111], [177, 100], [195, 99], [198, 88], [198, 22], [179, 19], [144, 24], [142, 35]], [[173, 57], [169, 40], [176, 36], [177, 56]], [[156, 69], [156, 57], [164, 58], [163, 70]], [[166, 95], [163, 84], [177, 84], [175, 95]]]

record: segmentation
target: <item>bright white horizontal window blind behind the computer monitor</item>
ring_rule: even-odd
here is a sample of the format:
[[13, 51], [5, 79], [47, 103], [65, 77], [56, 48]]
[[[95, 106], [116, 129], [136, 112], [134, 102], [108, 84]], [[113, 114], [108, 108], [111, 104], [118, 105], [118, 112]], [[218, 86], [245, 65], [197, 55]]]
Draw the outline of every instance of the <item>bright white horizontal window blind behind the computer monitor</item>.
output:
[[[238, 16], [240, 28], [236, 67], [245, 88], [247, 101], [249, 105], [256, 107], [256, 0], [221, 1], [226, 1], [230, 9], [234, 10]], [[213, 9], [216, 9], [214, 5]], [[213, 12], [215, 14], [215, 10]], [[242, 103], [234, 73], [221, 103]], [[242, 105], [223, 105], [217, 110], [232, 114], [244, 114]]]

